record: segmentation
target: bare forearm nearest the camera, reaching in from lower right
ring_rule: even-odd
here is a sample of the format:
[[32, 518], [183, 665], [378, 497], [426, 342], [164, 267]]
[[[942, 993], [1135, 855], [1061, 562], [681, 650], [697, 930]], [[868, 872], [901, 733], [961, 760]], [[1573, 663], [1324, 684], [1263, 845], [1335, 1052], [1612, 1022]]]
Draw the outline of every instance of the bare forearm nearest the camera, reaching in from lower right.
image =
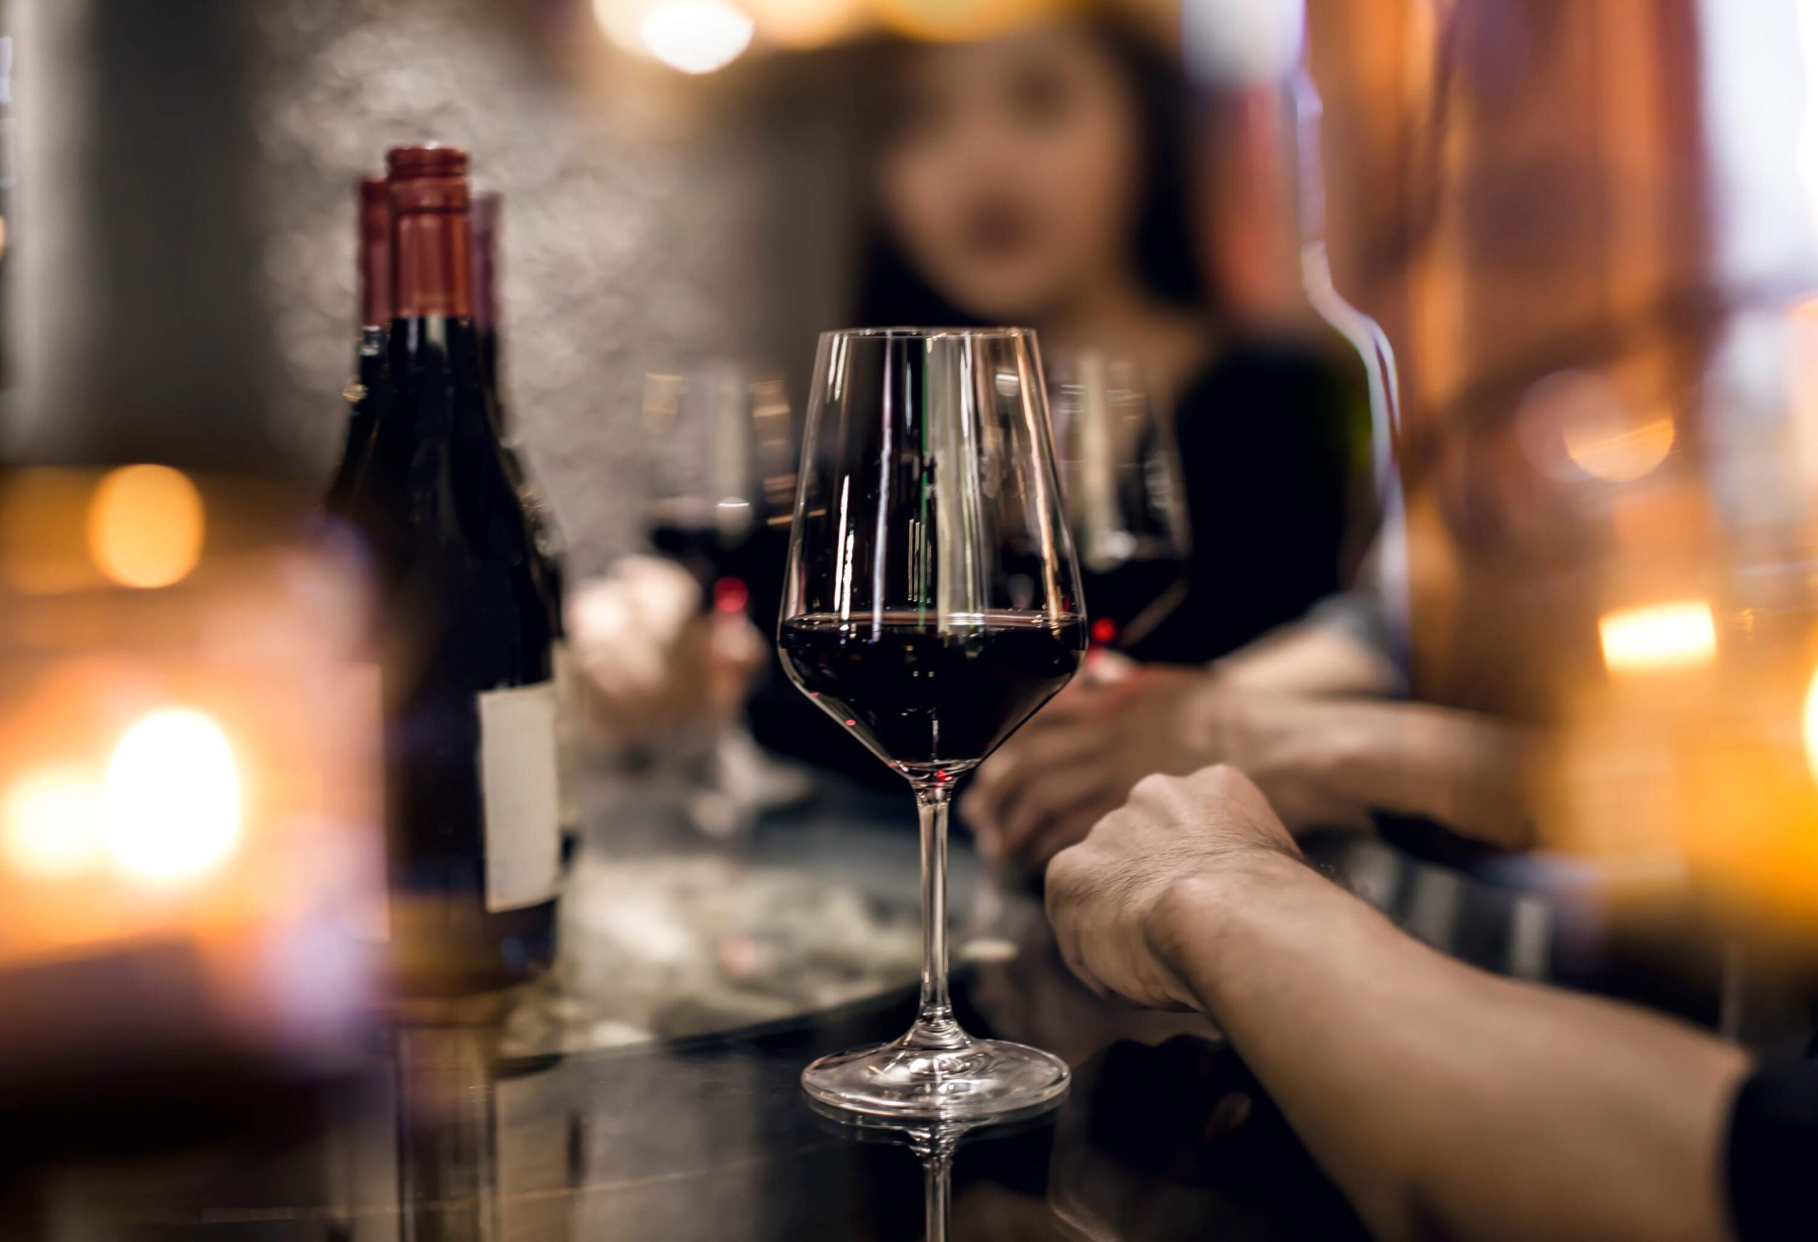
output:
[[1378, 1237], [1725, 1237], [1734, 1047], [1463, 967], [1287, 858], [1174, 889], [1154, 926]]

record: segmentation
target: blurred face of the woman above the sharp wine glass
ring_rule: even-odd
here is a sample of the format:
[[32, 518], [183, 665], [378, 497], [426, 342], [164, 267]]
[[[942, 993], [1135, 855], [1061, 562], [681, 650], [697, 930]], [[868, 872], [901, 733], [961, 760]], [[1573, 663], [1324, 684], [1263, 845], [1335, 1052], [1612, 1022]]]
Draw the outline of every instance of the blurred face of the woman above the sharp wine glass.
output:
[[1031, 322], [1127, 267], [1140, 120], [1091, 35], [1045, 27], [918, 51], [896, 85], [884, 218], [949, 302]]

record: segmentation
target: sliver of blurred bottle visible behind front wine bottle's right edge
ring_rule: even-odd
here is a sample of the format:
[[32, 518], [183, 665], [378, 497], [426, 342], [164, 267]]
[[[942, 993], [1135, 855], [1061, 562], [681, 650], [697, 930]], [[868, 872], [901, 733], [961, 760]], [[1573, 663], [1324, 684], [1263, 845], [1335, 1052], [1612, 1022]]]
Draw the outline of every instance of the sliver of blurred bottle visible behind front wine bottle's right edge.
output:
[[[480, 191], [471, 195], [471, 204], [473, 326], [474, 335], [480, 340], [480, 375], [482, 386], [485, 387], [485, 407], [493, 418], [493, 431], [498, 436], [500, 453], [504, 456], [511, 486], [516, 489], [518, 500], [524, 506], [525, 538], [531, 547], [531, 562], [536, 569], [544, 606], [549, 609], [549, 631], [554, 638], [554, 646], [551, 649], [551, 667], [554, 669], [556, 700], [562, 709], [558, 711], [558, 716], [565, 716], [569, 711], [567, 687], [571, 682], [567, 664], [567, 622], [562, 615], [565, 598], [562, 529], [556, 526], [554, 513], [549, 509], [544, 489], [538, 487], [529, 467], [524, 464], [524, 456], [516, 449], [514, 424], [507, 413], [505, 387], [500, 378], [500, 356], [504, 347], [500, 344], [498, 311], [498, 236], [504, 196], [496, 191]], [[574, 833], [580, 829], [573, 764], [569, 762], [565, 738], [558, 735], [556, 740], [560, 746], [558, 769], [562, 775], [562, 835], [565, 840], [573, 840]]]

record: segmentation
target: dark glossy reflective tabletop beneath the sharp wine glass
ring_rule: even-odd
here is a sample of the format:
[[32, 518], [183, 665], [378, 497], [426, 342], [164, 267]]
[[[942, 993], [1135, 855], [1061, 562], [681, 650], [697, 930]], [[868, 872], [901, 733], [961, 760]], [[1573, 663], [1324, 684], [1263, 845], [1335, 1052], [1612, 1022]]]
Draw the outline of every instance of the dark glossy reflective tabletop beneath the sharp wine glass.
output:
[[[773, 816], [744, 858], [913, 900], [913, 831], [884, 822], [909, 816], [907, 798], [822, 798]], [[1334, 856], [1356, 887], [1414, 915], [1433, 904], [1382, 856], [1347, 849]], [[502, 1035], [509, 1018], [411, 1024], [327, 1082], [204, 1078], [131, 1106], [98, 1091], [15, 1117], [0, 1137], [0, 1238], [1364, 1237], [1202, 1018], [1093, 998], [1054, 958], [1036, 898], [980, 887], [964, 840], [954, 853], [956, 906], [991, 889], [998, 933], [996, 951], [956, 967], [967, 1027], [1074, 1069], [1042, 1117], [909, 1133], [813, 1111], [802, 1066], [900, 1035], [902, 986], [716, 1033], [529, 1053]]]

